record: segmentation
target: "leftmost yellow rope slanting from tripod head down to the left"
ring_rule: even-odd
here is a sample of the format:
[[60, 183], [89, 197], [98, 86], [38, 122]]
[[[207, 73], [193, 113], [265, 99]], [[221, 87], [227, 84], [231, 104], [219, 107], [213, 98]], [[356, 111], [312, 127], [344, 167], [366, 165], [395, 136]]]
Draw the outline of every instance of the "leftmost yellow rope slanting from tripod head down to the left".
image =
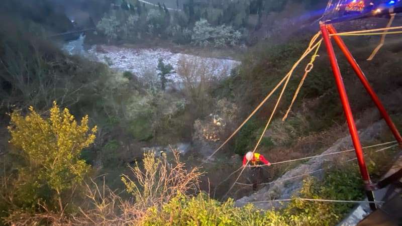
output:
[[[318, 45], [321, 44], [322, 38], [314, 44], [317, 39], [320, 37], [321, 32], [318, 32], [310, 41], [309, 47], [306, 49], [305, 53], [300, 57], [296, 63], [293, 65], [293, 67], [290, 69], [290, 71], [282, 78], [282, 80], [271, 90], [271, 92], [258, 104], [258, 106], [251, 112], [251, 114], [246, 118], [246, 120], [243, 121], [243, 123], [233, 132], [232, 135], [229, 136], [229, 138], [221, 145], [218, 147], [217, 150], [215, 150], [205, 161], [208, 161], [212, 156], [214, 156], [222, 147], [224, 147], [232, 138], [239, 132], [239, 130], [250, 120], [250, 118], [261, 108], [261, 106], [271, 97], [271, 95], [278, 89], [278, 87], [285, 81], [287, 78], [293, 73], [294, 69], [298, 66], [298, 64], [304, 60], [304, 58], [309, 55]], [[314, 45], [313, 45], [314, 44]]]

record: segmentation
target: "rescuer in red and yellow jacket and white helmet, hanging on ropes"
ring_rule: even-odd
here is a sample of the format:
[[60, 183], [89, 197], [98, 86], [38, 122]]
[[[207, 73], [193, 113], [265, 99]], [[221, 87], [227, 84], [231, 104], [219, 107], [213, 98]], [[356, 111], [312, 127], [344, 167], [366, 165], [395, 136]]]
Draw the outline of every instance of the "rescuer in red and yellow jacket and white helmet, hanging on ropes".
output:
[[249, 180], [251, 183], [253, 183], [253, 191], [256, 191], [258, 181], [262, 177], [261, 166], [270, 166], [271, 163], [269, 163], [268, 160], [266, 160], [261, 154], [253, 152], [247, 152], [246, 155], [244, 155], [243, 166], [246, 165], [247, 161], [249, 161], [250, 165], [252, 166]]

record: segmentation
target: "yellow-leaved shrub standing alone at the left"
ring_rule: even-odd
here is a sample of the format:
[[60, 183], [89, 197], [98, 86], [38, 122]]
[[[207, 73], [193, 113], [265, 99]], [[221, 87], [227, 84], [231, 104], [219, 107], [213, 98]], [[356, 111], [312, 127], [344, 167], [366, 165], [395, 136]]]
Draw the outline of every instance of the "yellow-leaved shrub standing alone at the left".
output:
[[79, 157], [81, 150], [93, 143], [96, 126], [88, 131], [88, 116], [78, 125], [69, 110], [61, 111], [56, 101], [49, 118], [42, 118], [32, 106], [29, 110], [25, 117], [18, 111], [10, 115], [10, 143], [24, 152], [38, 169], [38, 178], [60, 197], [63, 190], [79, 184], [88, 172], [89, 165]]

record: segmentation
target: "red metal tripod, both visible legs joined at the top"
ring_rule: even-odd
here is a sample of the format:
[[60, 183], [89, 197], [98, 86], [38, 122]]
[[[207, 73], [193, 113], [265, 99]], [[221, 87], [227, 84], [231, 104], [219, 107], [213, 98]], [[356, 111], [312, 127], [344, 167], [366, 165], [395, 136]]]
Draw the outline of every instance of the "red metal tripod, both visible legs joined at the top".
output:
[[[339, 65], [336, 60], [334, 48], [332, 46], [329, 34], [333, 35], [332, 37], [334, 38], [335, 42], [337, 43], [337, 45], [339, 46], [339, 48], [345, 55], [349, 64], [355, 71], [356, 75], [359, 77], [364, 88], [367, 90], [368, 94], [371, 96], [371, 98], [374, 101], [375, 105], [377, 106], [382, 118], [384, 118], [386, 124], [388, 125], [389, 129], [391, 130], [393, 136], [395, 137], [395, 139], [398, 142], [400, 147], [402, 147], [402, 138], [400, 137], [398, 130], [396, 129], [391, 118], [387, 114], [387, 112], [386, 112], [384, 106], [382, 105], [381, 101], [379, 100], [378, 96], [375, 94], [374, 90], [371, 88], [363, 71], [361, 70], [359, 65], [356, 63], [356, 60], [353, 58], [352, 54], [349, 52], [348, 48], [346, 47], [345, 43], [342, 41], [341, 37], [336, 35], [337, 32], [334, 29], [334, 27], [331, 24], [326, 25], [324, 23], [320, 23], [320, 28], [321, 28], [321, 33], [323, 35], [323, 40], [324, 40], [325, 46], [327, 48], [328, 56], [329, 56], [329, 59], [331, 62], [331, 67], [332, 67], [332, 71], [334, 73], [336, 85], [338, 87], [338, 92], [341, 97], [342, 106], [345, 111], [346, 120], [347, 120], [348, 126], [349, 126], [350, 136], [352, 137], [357, 161], [359, 163], [360, 174], [363, 178], [363, 182], [366, 185], [369, 185], [369, 184], [371, 184], [370, 176], [367, 171], [366, 163], [364, 162], [363, 151], [361, 148], [359, 136], [357, 134], [356, 125], [353, 120], [352, 110], [350, 108], [348, 96], [346, 94], [345, 86], [342, 81], [341, 72], [339, 70]], [[372, 190], [366, 190], [366, 194], [367, 194], [367, 198], [369, 201], [374, 201], [374, 193]], [[376, 205], [374, 202], [370, 203], [370, 208], [372, 210], [376, 209]]]

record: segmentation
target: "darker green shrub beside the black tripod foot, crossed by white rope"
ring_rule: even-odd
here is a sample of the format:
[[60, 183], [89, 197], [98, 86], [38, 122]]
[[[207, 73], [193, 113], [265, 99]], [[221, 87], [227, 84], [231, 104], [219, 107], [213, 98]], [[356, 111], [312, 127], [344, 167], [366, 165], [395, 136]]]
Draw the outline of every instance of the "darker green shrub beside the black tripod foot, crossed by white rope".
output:
[[[362, 181], [356, 165], [329, 170], [322, 180], [304, 180], [300, 197], [314, 199], [361, 200]], [[313, 202], [294, 198], [284, 210], [291, 225], [334, 225], [354, 206], [354, 203]]]

